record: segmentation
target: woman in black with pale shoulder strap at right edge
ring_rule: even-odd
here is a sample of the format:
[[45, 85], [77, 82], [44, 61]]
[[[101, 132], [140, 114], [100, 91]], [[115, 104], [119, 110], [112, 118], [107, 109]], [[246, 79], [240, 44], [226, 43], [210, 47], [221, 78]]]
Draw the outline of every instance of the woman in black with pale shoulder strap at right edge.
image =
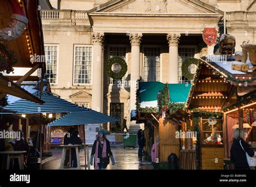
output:
[[234, 130], [233, 144], [230, 150], [230, 160], [232, 163], [234, 163], [235, 169], [250, 169], [245, 152], [251, 157], [254, 156], [254, 152], [248, 143], [245, 142], [246, 136], [247, 133], [243, 128], [236, 128]]

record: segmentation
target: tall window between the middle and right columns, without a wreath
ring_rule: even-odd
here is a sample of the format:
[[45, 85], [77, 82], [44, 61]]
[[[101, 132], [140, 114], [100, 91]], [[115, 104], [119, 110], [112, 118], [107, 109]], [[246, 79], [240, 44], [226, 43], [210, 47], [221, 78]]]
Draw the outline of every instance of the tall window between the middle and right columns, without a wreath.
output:
[[144, 47], [143, 80], [160, 81], [160, 48]]

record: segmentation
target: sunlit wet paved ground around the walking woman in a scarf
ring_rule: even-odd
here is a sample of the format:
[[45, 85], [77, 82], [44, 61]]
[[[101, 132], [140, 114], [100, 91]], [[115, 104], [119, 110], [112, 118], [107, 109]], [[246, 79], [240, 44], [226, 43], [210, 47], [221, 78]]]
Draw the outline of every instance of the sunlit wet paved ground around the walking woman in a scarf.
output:
[[[106, 169], [152, 169], [150, 163], [138, 160], [138, 148], [111, 147], [111, 150], [116, 164], [112, 166], [110, 161]], [[42, 169], [59, 169], [62, 149], [51, 149], [51, 152], [52, 158], [48, 158], [49, 161], [42, 162]], [[91, 153], [91, 147], [89, 152]], [[80, 149], [79, 158], [82, 169], [85, 169], [84, 149]], [[93, 166], [91, 166], [91, 169], [93, 169]]]

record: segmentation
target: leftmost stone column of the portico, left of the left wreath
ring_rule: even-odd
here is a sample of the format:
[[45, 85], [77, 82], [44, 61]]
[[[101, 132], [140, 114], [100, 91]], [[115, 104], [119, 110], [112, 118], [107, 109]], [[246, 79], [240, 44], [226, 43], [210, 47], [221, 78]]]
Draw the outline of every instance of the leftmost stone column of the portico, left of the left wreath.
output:
[[92, 33], [93, 61], [92, 61], [92, 109], [102, 112], [102, 45], [104, 33]]

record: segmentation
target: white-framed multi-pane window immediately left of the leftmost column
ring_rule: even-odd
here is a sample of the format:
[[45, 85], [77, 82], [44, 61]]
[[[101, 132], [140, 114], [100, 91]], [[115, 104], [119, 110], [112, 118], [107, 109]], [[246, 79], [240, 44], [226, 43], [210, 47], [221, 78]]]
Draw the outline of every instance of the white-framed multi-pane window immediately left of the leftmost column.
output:
[[74, 84], [91, 84], [92, 47], [75, 46], [74, 57], [75, 57]]

